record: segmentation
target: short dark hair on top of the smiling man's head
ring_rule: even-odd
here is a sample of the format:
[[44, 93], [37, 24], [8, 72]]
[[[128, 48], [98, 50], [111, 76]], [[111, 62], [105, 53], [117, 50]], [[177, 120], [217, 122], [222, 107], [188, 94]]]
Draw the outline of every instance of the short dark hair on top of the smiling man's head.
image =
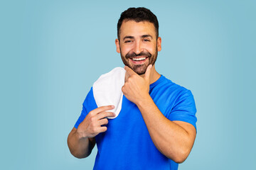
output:
[[154, 15], [148, 8], [139, 7], [139, 8], [128, 8], [126, 11], [121, 13], [119, 21], [117, 23], [117, 37], [120, 40], [119, 33], [123, 21], [136, 21], [137, 23], [142, 21], [149, 21], [154, 24], [156, 28], [156, 38], [159, 37], [159, 23]]

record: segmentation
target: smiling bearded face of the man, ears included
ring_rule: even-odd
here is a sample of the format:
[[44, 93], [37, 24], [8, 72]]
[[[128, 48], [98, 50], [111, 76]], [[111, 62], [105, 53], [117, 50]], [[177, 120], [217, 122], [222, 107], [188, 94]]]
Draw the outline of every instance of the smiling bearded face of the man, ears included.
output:
[[137, 74], [146, 72], [149, 64], [156, 62], [157, 52], [161, 50], [161, 38], [156, 39], [154, 24], [148, 21], [123, 21], [116, 40], [117, 52], [121, 54], [124, 65]]

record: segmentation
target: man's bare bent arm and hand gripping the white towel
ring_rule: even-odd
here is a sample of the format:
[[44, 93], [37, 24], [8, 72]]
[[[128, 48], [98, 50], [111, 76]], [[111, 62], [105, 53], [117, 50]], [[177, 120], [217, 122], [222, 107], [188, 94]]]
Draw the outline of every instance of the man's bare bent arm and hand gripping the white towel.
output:
[[78, 129], [73, 128], [68, 135], [68, 147], [71, 154], [77, 158], [85, 158], [90, 155], [95, 147], [95, 136], [107, 130], [108, 120], [106, 117], [114, 116], [114, 113], [107, 112], [113, 106], [102, 106], [90, 111], [80, 123]]

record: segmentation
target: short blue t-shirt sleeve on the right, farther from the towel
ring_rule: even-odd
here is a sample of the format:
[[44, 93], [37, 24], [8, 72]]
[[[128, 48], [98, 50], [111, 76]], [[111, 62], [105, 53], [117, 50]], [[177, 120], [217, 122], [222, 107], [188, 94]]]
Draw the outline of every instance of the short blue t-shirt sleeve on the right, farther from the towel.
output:
[[186, 90], [178, 96], [169, 114], [169, 120], [191, 123], [196, 128], [196, 103], [191, 91]]

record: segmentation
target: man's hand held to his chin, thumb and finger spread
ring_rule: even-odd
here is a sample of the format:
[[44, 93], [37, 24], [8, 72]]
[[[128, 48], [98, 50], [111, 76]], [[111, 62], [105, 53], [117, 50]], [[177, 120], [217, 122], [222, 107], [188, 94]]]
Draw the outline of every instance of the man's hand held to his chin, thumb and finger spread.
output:
[[143, 101], [149, 96], [149, 77], [152, 65], [150, 64], [146, 68], [144, 77], [139, 76], [131, 68], [125, 66], [126, 70], [124, 78], [124, 86], [122, 86], [122, 92], [124, 96], [133, 103], [137, 104], [139, 101]]

